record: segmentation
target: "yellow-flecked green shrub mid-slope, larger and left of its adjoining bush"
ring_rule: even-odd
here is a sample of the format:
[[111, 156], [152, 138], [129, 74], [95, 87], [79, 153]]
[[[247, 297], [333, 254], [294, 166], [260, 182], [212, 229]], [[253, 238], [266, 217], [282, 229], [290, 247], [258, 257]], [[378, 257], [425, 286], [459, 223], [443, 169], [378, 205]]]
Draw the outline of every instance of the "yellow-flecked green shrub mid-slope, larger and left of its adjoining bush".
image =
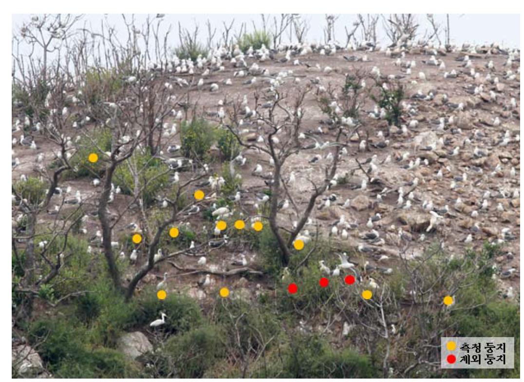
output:
[[180, 125], [180, 131], [182, 133], [182, 154], [184, 157], [205, 159], [215, 141], [215, 132], [210, 123], [203, 118], [193, 118], [190, 123], [183, 121]]

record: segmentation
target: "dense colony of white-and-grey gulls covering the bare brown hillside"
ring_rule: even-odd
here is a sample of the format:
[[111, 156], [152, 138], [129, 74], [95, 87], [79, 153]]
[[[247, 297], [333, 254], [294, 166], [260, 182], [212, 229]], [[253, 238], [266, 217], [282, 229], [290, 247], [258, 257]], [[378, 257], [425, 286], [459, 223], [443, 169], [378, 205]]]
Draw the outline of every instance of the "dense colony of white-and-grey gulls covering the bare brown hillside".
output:
[[[262, 46], [245, 53], [238, 48], [215, 49], [208, 57], [195, 61], [175, 56], [168, 62], [150, 64], [144, 72], [126, 77], [125, 84], [139, 86], [147, 73], [155, 73], [170, 92], [172, 111], [163, 118], [159, 138], [166, 145], [156, 155], [171, 169], [170, 184], [165, 187], [183, 183], [196, 168], [181, 153], [179, 130], [187, 117], [180, 102], [182, 94], [198, 99], [198, 110], [203, 110], [204, 118], [230, 129], [242, 142], [239, 154], [226, 161], [231, 176], [241, 180], [242, 185], [225, 195], [227, 205], [217, 206], [225, 183], [220, 175], [223, 163], [210, 160], [201, 164], [198, 171], [202, 179], [189, 188], [190, 206], [173, 222], [180, 230], [191, 227], [196, 237], [171, 265], [161, 261], [168, 250], [160, 245], [154, 255], [156, 267], [141, 283], [158, 284], [157, 289], [167, 293], [188, 288], [198, 299], [205, 299], [213, 286], [225, 283], [233, 284], [233, 296], [238, 283], [258, 293], [264, 286], [258, 282], [246, 286], [246, 279], [240, 278], [242, 272], [236, 279], [223, 277], [234, 275], [237, 269], [260, 273], [256, 252], [231, 237], [233, 224], [220, 230], [215, 222], [204, 218], [204, 212], [211, 211], [212, 221], [239, 214], [235, 216], [246, 221], [245, 230], [253, 230], [256, 221], [266, 229], [269, 224], [265, 211], [270, 208], [271, 195], [278, 193], [276, 224], [292, 232], [300, 225], [310, 195], [324, 184], [325, 174], [336, 160], [333, 176], [314, 200], [295, 238], [305, 244], [319, 237], [330, 243], [332, 258], [318, 265], [324, 275], [343, 277], [350, 272], [369, 275], [378, 271], [387, 277], [400, 258], [417, 258], [432, 244], [440, 245], [450, 256], [462, 256], [466, 249], [479, 249], [488, 242], [504, 248], [504, 254], [496, 259], [494, 275], [500, 279], [501, 289], [518, 285], [518, 51], [494, 45], [447, 50], [414, 44], [376, 49], [366, 45]], [[358, 105], [358, 116], [340, 115], [340, 89], [356, 72], [361, 73], [357, 80], [363, 91], [376, 86], [377, 81], [385, 90], [394, 83], [403, 87], [396, 124], [388, 123], [388, 111], [372, 97], [365, 97]], [[300, 149], [277, 168], [271, 153], [278, 157], [287, 149], [284, 146], [288, 145], [289, 134], [281, 129], [271, 135], [274, 127], [267, 122], [268, 111], [274, 108], [278, 95], [285, 94], [290, 105], [306, 88], [309, 91], [303, 92], [300, 107], [274, 110], [282, 123], [301, 119], [296, 134]], [[75, 115], [67, 134], [67, 147], [74, 147], [83, 131], [95, 126], [89, 111], [75, 103], [77, 94], [72, 91], [68, 96], [72, 98], [71, 106], [52, 112]], [[318, 102], [322, 97], [329, 98], [333, 114], [322, 113]], [[341, 118], [335, 123], [334, 116]], [[17, 181], [27, 179], [35, 169], [49, 166], [61, 153], [50, 151], [40, 123], [24, 114], [13, 117], [12, 177]], [[335, 126], [340, 121], [344, 129], [342, 138], [337, 139], [339, 129]], [[132, 140], [134, 133], [140, 134], [131, 130], [122, 143]], [[211, 156], [216, 151], [213, 146]], [[74, 151], [65, 155], [69, 158]], [[280, 174], [278, 190], [273, 184], [275, 171]], [[54, 191], [47, 215], [39, 219], [52, 221], [53, 215], [68, 205], [85, 203], [89, 207], [93, 198], [104, 192], [103, 182], [98, 178], [64, 180]], [[197, 189], [205, 195], [202, 200], [193, 197]], [[122, 210], [133, 197], [114, 185], [108, 192], [110, 216], [124, 211], [114, 232], [142, 232], [144, 226], [136, 210]], [[167, 200], [157, 199], [160, 209], [168, 208]], [[13, 203], [21, 201], [13, 195]], [[95, 205], [92, 210], [96, 210]], [[23, 217], [13, 216], [13, 224]], [[89, 238], [91, 253], [102, 252], [103, 235], [96, 213], [82, 217], [80, 234]], [[46, 245], [40, 243], [41, 248]], [[147, 261], [146, 244], [127, 253], [117, 238], [111, 245], [119, 260], [131, 264], [127, 279]], [[339, 252], [341, 245], [352, 252]], [[292, 256], [305, 253], [294, 251]], [[340, 264], [326, 265], [333, 264], [333, 260]], [[185, 270], [194, 272], [178, 276]], [[372, 289], [379, 287], [372, 277], [368, 283]], [[165, 314], [151, 326], [163, 322]]]

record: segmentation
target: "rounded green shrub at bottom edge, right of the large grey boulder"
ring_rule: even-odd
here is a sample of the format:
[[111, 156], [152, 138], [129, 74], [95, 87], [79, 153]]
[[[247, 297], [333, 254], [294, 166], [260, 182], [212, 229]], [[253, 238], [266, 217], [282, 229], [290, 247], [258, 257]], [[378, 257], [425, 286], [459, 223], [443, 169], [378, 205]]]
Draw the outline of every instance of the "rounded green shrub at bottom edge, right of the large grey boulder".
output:
[[177, 378], [202, 378], [206, 370], [224, 355], [224, 334], [221, 326], [204, 325], [166, 342], [168, 364]]

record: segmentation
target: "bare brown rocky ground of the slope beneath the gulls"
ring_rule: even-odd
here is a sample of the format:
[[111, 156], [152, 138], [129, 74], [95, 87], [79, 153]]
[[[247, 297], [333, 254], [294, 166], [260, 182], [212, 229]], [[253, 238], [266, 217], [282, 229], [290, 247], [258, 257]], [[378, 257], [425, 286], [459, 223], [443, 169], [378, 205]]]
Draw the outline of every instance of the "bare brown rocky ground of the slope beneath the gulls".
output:
[[[414, 61], [411, 74], [406, 74], [406, 69], [397, 65], [397, 58], [388, 56], [385, 52], [336, 52], [329, 56], [318, 53], [308, 53], [297, 56], [299, 64], [293, 64], [293, 59], [288, 62], [267, 60], [258, 62], [260, 69], [268, 69], [275, 74], [287, 71], [287, 78], [281, 84], [281, 90], [290, 96], [296, 92], [297, 86], [310, 83], [310, 79], [319, 79], [315, 84], [315, 91], [308, 94], [305, 99], [305, 117], [303, 119], [303, 132], [308, 133], [306, 138], [311, 142], [319, 143], [334, 140], [334, 131], [329, 125], [323, 124], [326, 117], [322, 115], [316, 102], [316, 90], [320, 86], [329, 84], [342, 84], [343, 73], [351, 73], [355, 69], [365, 69], [372, 72], [378, 68], [383, 75], [402, 75], [400, 82], [406, 86], [406, 110], [403, 114], [402, 124], [392, 127], [389, 142], [384, 148], [374, 147], [384, 141], [378, 133], [386, 133], [387, 122], [383, 119], [372, 117], [365, 118], [366, 130], [369, 137], [364, 149], [359, 149], [361, 141], [357, 136], [350, 137], [347, 146], [347, 155], [344, 155], [337, 169], [337, 177], [344, 178], [346, 173], [353, 172], [344, 184], [337, 184], [326, 195], [335, 194], [336, 200], [329, 208], [320, 208], [323, 203], [319, 198], [319, 206], [313, 210], [311, 223], [305, 229], [314, 235], [318, 226], [320, 235], [328, 237], [333, 225], [337, 226], [337, 233], [330, 236], [332, 243], [347, 241], [358, 252], [368, 257], [370, 264], [376, 264], [376, 258], [388, 256], [381, 260], [387, 267], [395, 267], [398, 257], [414, 257], [420, 255], [425, 248], [433, 242], [442, 243], [443, 248], [452, 255], [460, 256], [466, 248], [478, 249], [483, 242], [500, 243], [503, 245], [505, 255], [497, 258], [499, 267], [501, 290], [512, 286], [519, 287], [520, 268], [520, 62], [519, 57], [508, 63], [508, 55], [500, 52], [477, 50], [476, 53], [457, 51], [453, 53], [436, 54], [438, 65], [428, 64], [429, 54], [423, 54], [420, 49], [411, 49], [405, 57], [400, 58], [401, 63]], [[471, 60], [471, 66], [464, 67], [464, 56]], [[361, 59], [348, 62], [343, 56], [353, 55]], [[283, 57], [283, 56], [282, 56]], [[366, 57], [367, 61], [362, 61]], [[459, 61], [460, 60], [460, 61]], [[247, 58], [248, 67], [255, 58]], [[425, 62], [424, 62], [425, 61]], [[488, 62], [493, 62], [493, 68], [488, 68]], [[440, 63], [445, 69], [440, 69]], [[307, 63], [307, 65], [305, 65]], [[318, 65], [318, 67], [317, 67]], [[247, 96], [248, 105], [254, 108], [254, 90], [265, 89], [269, 86], [265, 78], [257, 78], [256, 84], [246, 85], [246, 78], [234, 77], [234, 68], [230, 63], [224, 63], [223, 71], [212, 72], [205, 79], [202, 88], [191, 90], [191, 97], [199, 99], [199, 108], [205, 112], [218, 111], [220, 100], [242, 99]], [[330, 67], [332, 70], [325, 70]], [[444, 78], [444, 72], [455, 70], [456, 78]], [[471, 75], [471, 70], [478, 73], [478, 77]], [[419, 72], [424, 73], [424, 79], [419, 77]], [[183, 78], [180, 74], [177, 77]], [[188, 75], [185, 75], [188, 77]], [[251, 78], [249, 76], [248, 78]], [[495, 80], [498, 79], [498, 82]], [[223, 85], [226, 79], [232, 80], [232, 85]], [[373, 81], [368, 81], [371, 86]], [[219, 90], [210, 92], [209, 84], [219, 84]], [[261, 84], [260, 84], [261, 83]], [[479, 89], [479, 87], [481, 87]], [[475, 88], [477, 90], [475, 91]], [[180, 89], [180, 92], [185, 89]], [[430, 93], [433, 96], [430, 96]], [[422, 94], [420, 97], [414, 97]], [[431, 100], [426, 100], [430, 98]], [[447, 99], [447, 100], [446, 100]], [[512, 102], [515, 104], [512, 105]], [[374, 110], [374, 102], [366, 100], [363, 109]], [[226, 102], [227, 109], [227, 102]], [[366, 113], [367, 114], [367, 113]], [[441, 124], [439, 118], [443, 118]], [[210, 119], [213, 119], [210, 117]], [[452, 121], [451, 121], [452, 119]], [[215, 119], [216, 120], [216, 119]], [[174, 121], [173, 121], [174, 122]], [[441, 124], [441, 126], [439, 126]], [[253, 124], [247, 123], [248, 129], [245, 139], [256, 139], [259, 130]], [[74, 134], [74, 133], [72, 133]], [[13, 134], [14, 138], [20, 137], [20, 132]], [[314, 138], [311, 138], [314, 137]], [[178, 143], [178, 138], [173, 138], [173, 143]], [[440, 140], [440, 142], [439, 142]], [[32, 174], [35, 167], [35, 157], [41, 152], [45, 155], [45, 162], [51, 157], [47, 143], [35, 135], [38, 149], [31, 149], [16, 144], [13, 146], [13, 158], [18, 158], [20, 163], [14, 168], [12, 179], [17, 180], [21, 174]], [[434, 145], [431, 150], [427, 146]], [[294, 174], [294, 182], [287, 184], [288, 191], [301, 211], [307, 203], [311, 192], [311, 183], [308, 179], [319, 181], [322, 171], [329, 159], [325, 159], [331, 149], [310, 149], [302, 151], [299, 155], [291, 157], [283, 169], [283, 179], [289, 180]], [[453, 152], [455, 151], [455, 152]], [[253, 213], [256, 203], [255, 194], [267, 189], [263, 175], [272, 169], [269, 157], [259, 154], [254, 150], [244, 150], [242, 155], [247, 158], [243, 166], [237, 166], [236, 171], [243, 178], [241, 204], [246, 213]], [[311, 163], [311, 159], [321, 155], [322, 159]], [[380, 180], [380, 187], [369, 184], [365, 190], [359, 185], [367, 175], [358, 170], [355, 158], [361, 163], [373, 159], [377, 170], [372, 177]], [[389, 161], [386, 161], [389, 158]], [[420, 159], [418, 159], [420, 158]], [[409, 163], [412, 162], [411, 167]], [[257, 164], [263, 168], [261, 174], [253, 174]], [[222, 163], [210, 163], [212, 171], [220, 172]], [[364, 169], [370, 167], [368, 162]], [[465, 176], [464, 176], [465, 174]], [[262, 175], [262, 176], [260, 176]], [[181, 174], [181, 177], [184, 175]], [[414, 180], [418, 184], [413, 185]], [[417, 182], [417, 181], [415, 181]], [[340, 182], [343, 183], [343, 182]], [[90, 195], [99, 192], [99, 188], [92, 185], [90, 179], [68, 180], [62, 187], [69, 185], [72, 194], [80, 190], [83, 199], [89, 200]], [[386, 191], [384, 188], [387, 187]], [[399, 205], [399, 188], [403, 190], [403, 201]], [[203, 188], [206, 194], [211, 195], [211, 190]], [[489, 193], [489, 194], [488, 194]], [[381, 200], [377, 199], [380, 194]], [[116, 195], [115, 201], [110, 205], [110, 211], [115, 213], [127, 203], [124, 195]], [[345, 204], [345, 201], [348, 203]], [[409, 201], [410, 203], [406, 204]], [[428, 208], [428, 203], [432, 208]], [[213, 199], [205, 199], [200, 203], [209, 206]], [[484, 204], [484, 205], [483, 205]], [[447, 210], [445, 210], [447, 206]], [[432, 210], [439, 217], [430, 214]], [[367, 223], [372, 216], [380, 214], [381, 218], [372, 222], [373, 227]], [[343, 219], [341, 220], [341, 218]], [[434, 223], [431, 223], [431, 220]], [[279, 223], [286, 228], [291, 228], [293, 221], [297, 220], [293, 206], [279, 214]], [[119, 228], [136, 221], [133, 212], [127, 212]], [[338, 221], [339, 223], [335, 222]], [[202, 216], [191, 219], [191, 225], [206, 230], [212, 236], [212, 223], [204, 221]], [[428, 227], [432, 225], [428, 231]], [[99, 229], [96, 217], [90, 216], [85, 222], [87, 237]], [[234, 228], [228, 228], [233, 230]], [[383, 241], [369, 243], [361, 236], [371, 229], [376, 230]], [[344, 238], [343, 231], [347, 232]], [[468, 238], [471, 235], [471, 238]], [[199, 244], [199, 243], [195, 243]], [[156, 283], [160, 275], [167, 271], [168, 293], [189, 289], [190, 294], [199, 299], [208, 297], [216, 286], [229, 286], [232, 293], [239, 288], [253, 290], [264, 288], [263, 280], [254, 282], [254, 285], [241, 278], [241, 276], [224, 277], [212, 272], [211, 286], [202, 290], [196, 285], [206, 270], [219, 270], [220, 273], [227, 269], [235, 269], [231, 265], [232, 258], [239, 257], [238, 246], [224, 246], [219, 250], [212, 250], [208, 254], [205, 268], [198, 272], [188, 272], [164, 264], [155, 270], [154, 276], [147, 277], [144, 282]], [[96, 253], [96, 250], [95, 250]], [[248, 260], [248, 267], [258, 269], [259, 259], [256, 254], [243, 252]], [[129, 254], [126, 254], [127, 256]], [[181, 268], [198, 268], [196, 261], [199, 253], [193, 256], [182, 256], [176, 264]], [[336, 255], [333, 254], [334, 259]], [[350, 257], [350, 260], [352, 258]], [[356, 259], [354, 260], [356, 262]], [[139, 261], [140, 263], [140, 261]], [[132, 274], [135, 266], [128, 270]], [[515, 268], [510, 272], [510, 277], [504, 277], [505, 271]], [[180, 276], [182, 275], [183, 276]], [[259, 284], [257, 287], [256, 284]], [[261, 286], [260, 286], [261, 284]], [[249, 295], [249, 293], [246, 293]]]

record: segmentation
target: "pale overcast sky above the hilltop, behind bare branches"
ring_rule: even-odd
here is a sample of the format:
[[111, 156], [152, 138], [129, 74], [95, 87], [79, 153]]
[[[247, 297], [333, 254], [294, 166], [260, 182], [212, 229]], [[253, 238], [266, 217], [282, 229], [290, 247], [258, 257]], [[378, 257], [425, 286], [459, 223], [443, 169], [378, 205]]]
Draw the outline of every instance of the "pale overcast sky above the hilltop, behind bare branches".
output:
[[[123, 31], [123, 22], [121, 15], [101, 15], [101, 14], [88, 14], [84, 16], [84, 20], [88, 23], [92, 23], [93, 29], [96, 29], [100, 25], [100, 20], [103, 17], [107, 17], [111, 24], [121, 26], [118, 28]], [[135, 15], [136, 20], [141, 24], [147, 15]], [[308, 32], [308, 41], [323, 41], [323, 28], [325, 26], [325, 15], [320, 14], [304, 14], [303, 18], [310, 21], [310, 30]], [[422, 32], [428, 27], [428, 23], [425, 20], [425, 15], [418, 15], [418, 21]], [[19, 27], [24, 21], [28, 20], [30, 15], [15, 14], [12, 16], [13, 28]], [[187, 15], [166, 15], [163, 23], [167, 26], [169, 23], [173, 24], [172, 46], [178, 44], [178, 22], [183, 27], [192, 28], [195, 23], [200, 26], [200, 38], [205, 40], [206, 36], [206, 20], [210, 20], [213, 27], [217, 28], [217, 35], [219, 35], [222, 28], [222, 21], [227, 24], [235, 19], [236, 28], [239, 28], [241, 23], [246, 22], [248, 31], [253, 30], [253, 23], [255, 21], [258, 27], [261, 26], [261, 18], [259, 14], [187, 14]], [[435, 15], [435, 19], [445, 24], [445, 15]], [[344, 26], [351, 27], [353, 21], [356, 20], [356, 15], [340, 15], [335, 24], [335, 37], [341, 42], [345, 42]], [[384, 32], [381, 30], [381, 21], [379, 21], [379, 37], [381, 40], [387, 41]], [[454, 43], [491, 43], [498, 42], [503, 46], [516, 48], [520, 47], [520, 17], [518, 14], [515, 15], [450, 15], [450, 30], [451, 39]], [[444, 34], [442, 34], [442, 37]], [[288, 39], [286, 38], [286, 42]]]

